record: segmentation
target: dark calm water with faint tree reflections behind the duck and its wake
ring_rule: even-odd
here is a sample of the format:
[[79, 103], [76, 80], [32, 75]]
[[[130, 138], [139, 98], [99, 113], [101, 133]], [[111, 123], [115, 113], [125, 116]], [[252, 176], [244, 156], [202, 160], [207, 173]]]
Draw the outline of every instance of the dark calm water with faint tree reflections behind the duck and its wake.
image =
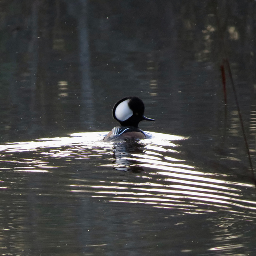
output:
[[[221, 134], [226, 56], [248, 128], [255, 110], [255, 5], [3, 0], [2, 142], [109, 130], [112, 106], [127, 95], [140, 96], [156, 118], [142, 124], [146, 130]], [[229, 84], [228, 104], [228, 128], [239, 133]]]

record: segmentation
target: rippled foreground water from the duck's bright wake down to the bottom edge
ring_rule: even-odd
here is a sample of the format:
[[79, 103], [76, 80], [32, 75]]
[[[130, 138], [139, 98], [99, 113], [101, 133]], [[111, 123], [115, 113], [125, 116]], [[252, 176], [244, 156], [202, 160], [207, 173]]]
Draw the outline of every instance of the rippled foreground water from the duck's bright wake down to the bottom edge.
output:
[[194, 166], [192, 138], [146, 133], [123, 143], [86, 132], [2, 144], [2, 254], [255, 253], [254, 186]]

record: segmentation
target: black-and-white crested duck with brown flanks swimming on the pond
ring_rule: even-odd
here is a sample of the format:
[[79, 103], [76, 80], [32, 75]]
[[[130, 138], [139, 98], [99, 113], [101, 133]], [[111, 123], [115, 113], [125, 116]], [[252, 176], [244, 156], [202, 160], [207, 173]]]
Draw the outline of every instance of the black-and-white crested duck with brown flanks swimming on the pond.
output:
[[144, 109], [138, 97], [126, 97], [116, 102], [112, 114], [121, 126], [114, 127], [103, 140], [146, 139], [146, 134], [138, 128], [138, 124], [142, 120], [154, 119], [144, 116]]

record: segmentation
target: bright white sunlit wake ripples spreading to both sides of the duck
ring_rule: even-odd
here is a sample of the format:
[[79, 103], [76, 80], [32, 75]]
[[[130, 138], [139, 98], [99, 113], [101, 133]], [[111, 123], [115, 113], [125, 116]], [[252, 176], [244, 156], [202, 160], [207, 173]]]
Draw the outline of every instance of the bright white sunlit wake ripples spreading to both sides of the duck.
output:
[[[197, 170], [180, 158], [182, 148], [178, 142], [187, 138], [147, 132], [150, 136], [147, 140], [106, 143], [102, 142], [105, 135], [106, 132], [76, 133], [69, 137], [6, 143], [0, 146], [1, 170], [54, 174], [56, 168], [68, 167], [70, 171], [74, 165], [72, 172], [79, 172], [80, 161], [83, 160], [85, 166], [90, 161], [94, 171], [100, 170], [99, 177], [63, 180], [64, 189], [69, 187], [70, 193], [86, 193], [116, 203], [175, 207], [190, 214], [234, 210], [244, 216], [242, 210], [256, 210], [256, 202], [247, 200], [241, 193], [245, 188], [253, 192], [252, 184], [232, 182], [228, 176], [220, 179], [218, 174]], [[104, 168], [109, 167], [124, 174], [134, 173], [134, 181], [129, 181], [130, 175], [125, 175], [128, 179], [121, 181], [111, 180], [108, 175], [104, 178]], [[3, 180], [1, 189], [11, 187], [5, 183], [8, 184]], [[250, 212], [249, 217], [256, 215]]]

